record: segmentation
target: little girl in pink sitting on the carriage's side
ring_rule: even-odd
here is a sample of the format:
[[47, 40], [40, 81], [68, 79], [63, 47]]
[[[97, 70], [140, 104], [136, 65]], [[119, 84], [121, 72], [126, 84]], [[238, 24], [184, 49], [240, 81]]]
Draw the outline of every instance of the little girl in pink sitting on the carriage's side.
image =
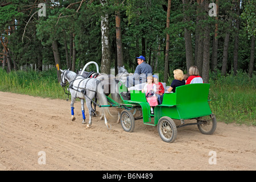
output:
[[147, 77], [147, 83], [145, 84], [144, 88], [142, 89], [142, 93], [146, 93], [146, 99], [148, 104], [150, 105], [151, 114], [154, 114], [153, 106], [158, 105], [158, 99], [155, 96], [156, 93], [156, 85], [153, 83], [153, 77]]

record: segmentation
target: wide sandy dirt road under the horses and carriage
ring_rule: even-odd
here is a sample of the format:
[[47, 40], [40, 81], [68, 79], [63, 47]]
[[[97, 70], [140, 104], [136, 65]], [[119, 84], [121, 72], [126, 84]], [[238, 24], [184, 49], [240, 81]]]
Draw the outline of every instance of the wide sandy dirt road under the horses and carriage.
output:
[[69, 101], [5, 92], [0, 99], [0, 170], [256, 169], [253, 126], [218, 122], [213, 135], [201, 134], [197, 126], [181, 127], [175, 142], [166, 143], [141, 119], [133, 133], [117, 118], [110, 120], [110, 130], [99, 117], [86, 129], [78, 101], [72, 122]]

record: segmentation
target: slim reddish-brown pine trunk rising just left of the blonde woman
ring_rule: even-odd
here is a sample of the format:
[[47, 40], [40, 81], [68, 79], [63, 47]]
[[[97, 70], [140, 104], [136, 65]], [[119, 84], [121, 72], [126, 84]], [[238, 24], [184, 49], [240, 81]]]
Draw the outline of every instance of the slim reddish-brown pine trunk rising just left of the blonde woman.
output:
[[[167, 20], [166, 20], [166, 29], [167, 29], [167, 31], [170, 27], [170, 14], [171, 14], [171, 0], [168, 0]], [[169, 47], [170, 47], [170, 35], [167, 32], [167, 35], [166, 35], [166, 53], [165, 53], [165, 56], [164, 56], [164, 82], [168, 81]]]

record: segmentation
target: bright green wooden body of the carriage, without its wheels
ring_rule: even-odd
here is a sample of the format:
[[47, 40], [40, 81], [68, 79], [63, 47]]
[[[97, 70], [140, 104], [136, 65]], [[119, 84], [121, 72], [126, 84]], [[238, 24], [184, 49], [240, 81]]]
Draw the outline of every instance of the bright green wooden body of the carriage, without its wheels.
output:
[[[172, 119], [192, 119], [212, 114], [208, 103], [210, 84], [188, 84], [176, 88], [175, 93], [164, 93], [163, 103], [154, 107], [154, 125], [158, 125], [161, 117]], [[119, 92], [127, 92], [125, 85]], [[143, 122], [150, 122], [150, 105], [145, 93], [141, 90], [130, 90], [131, 100], [123, 100], [123, 104], [139, 105], [142, 108]]]

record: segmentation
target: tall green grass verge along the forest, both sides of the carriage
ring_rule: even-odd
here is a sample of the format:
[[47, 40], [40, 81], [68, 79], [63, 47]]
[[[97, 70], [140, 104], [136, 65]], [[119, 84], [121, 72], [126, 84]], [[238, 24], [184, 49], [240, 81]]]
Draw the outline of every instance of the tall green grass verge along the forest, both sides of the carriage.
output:
[[[67, 99], [57, 82], [56, 70], [35, 72], [16, 71], [9, 74], [0, 68], [0, 91], [28, 94], [43, 98]], [[159, 74], [163, 75], [163, 74]], [[255, 121], [255, 74], [253, 78], [247, 73], [238, 72], [221, 76], [210, 74], [209, 102], [210, 109], [217, 121], [256, 126]]]

